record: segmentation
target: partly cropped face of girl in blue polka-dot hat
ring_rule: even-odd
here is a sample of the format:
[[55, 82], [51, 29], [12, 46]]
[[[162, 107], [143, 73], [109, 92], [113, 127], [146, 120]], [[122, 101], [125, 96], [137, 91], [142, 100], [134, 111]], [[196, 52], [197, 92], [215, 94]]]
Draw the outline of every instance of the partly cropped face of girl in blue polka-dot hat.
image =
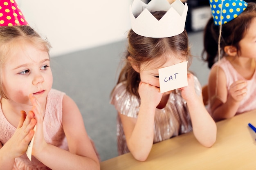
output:
[[240, 56], [256, 58], [256, 18], [245, 33], [245, 37], [239, 42]]

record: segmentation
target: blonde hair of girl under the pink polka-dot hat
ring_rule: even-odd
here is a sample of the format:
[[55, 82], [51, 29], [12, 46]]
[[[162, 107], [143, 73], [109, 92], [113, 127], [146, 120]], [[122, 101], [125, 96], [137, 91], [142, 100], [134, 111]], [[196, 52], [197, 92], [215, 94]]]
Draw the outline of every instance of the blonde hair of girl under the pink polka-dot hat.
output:
[[2, 68], [10, 53], [15, 52], [15, 46], [24, 45], [24, 42], [31, 43], [49, 54], [49, 42], [43, 40], [30, 26], [0, 26], [0, 96], [3, 98], [8, 97], [4, 92]]

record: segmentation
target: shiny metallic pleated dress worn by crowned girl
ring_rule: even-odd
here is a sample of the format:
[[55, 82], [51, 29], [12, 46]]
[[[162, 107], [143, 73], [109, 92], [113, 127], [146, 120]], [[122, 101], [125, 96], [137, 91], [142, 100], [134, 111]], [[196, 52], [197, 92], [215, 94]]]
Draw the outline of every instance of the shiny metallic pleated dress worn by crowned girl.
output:
[[[201, 94], [202, 88], [198, 79], [194, 76], [195, 91]], [[110, 99], [116, 110], [122, 115], [137, 118], [139, 113], [140, 99], [126, 91], [125, 82], [117, 84]], [[191, 120], [188, 113], [186, 101], [182, 98], [180, 91], [176, 90], [170, 94], [166, 106], [155, 110], [154, 143], [170, 139], [177, 135], [192, 130]], [[117, 150], [122, 155], [130, 152], [126, 144], [126, 137], [121, 119], [117, 114]]]

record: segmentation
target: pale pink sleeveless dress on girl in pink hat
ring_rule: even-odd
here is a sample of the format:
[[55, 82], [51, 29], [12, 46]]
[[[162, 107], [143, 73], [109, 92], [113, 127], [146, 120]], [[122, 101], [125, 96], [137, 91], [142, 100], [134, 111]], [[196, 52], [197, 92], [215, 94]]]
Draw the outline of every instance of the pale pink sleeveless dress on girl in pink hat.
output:
[[[43, 119], [44, 136], [47, 143], [68, 150], [67, 140], [62, 127], [62, 99], [65, 93], [52, 89], [47, 96]], [[0, 142], [5, 144], [16, 128], [4, 117], [0, 106]], [[29, 161], [26, 154], [15, 159], [13, 170], [49, 170], [43, 163], [32, 156]]]

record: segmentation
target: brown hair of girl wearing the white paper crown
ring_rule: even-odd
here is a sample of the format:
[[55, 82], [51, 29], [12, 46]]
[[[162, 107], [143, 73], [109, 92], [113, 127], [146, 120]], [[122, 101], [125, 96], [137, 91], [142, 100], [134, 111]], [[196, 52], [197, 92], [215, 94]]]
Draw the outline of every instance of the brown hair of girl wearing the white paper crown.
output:
[[[156, 11], [152, 14], [158, 20], [166, 11]], [[189, 41], [186, 30], [181, 34], [168, 38], [148, 38], [137, 35], [132, 29], [128, 32], [128, 48], [125, 55], [125, 64], [121, 69], [117, 84], [126, 82], [126, 90], [132, 95], [138, 94], [138, 87], [140, 82], [140, 75], [133, 68], [128, 60], [132, 57], [136, 66], [140, 66], [144, 62], [150, 62], [155, 58], [162, 57], [162, 64], [167, 60], [167, 57], [172, 54], [175, 57], [178, 55], [184, 56], [184, 60], [189, 60], [190, 50]], [[191, 62], [191, 60], [189, 60]]]

